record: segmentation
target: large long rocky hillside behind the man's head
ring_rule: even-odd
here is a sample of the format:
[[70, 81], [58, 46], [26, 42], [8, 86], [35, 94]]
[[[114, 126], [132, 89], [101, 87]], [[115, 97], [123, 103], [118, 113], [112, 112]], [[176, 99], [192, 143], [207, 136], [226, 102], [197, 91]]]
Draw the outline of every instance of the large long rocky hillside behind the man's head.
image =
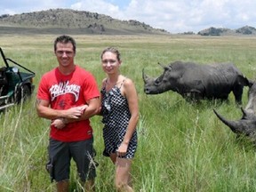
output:
[[137, 20], [116, 20], [95, 12], [51, 9], [41, 12], [0, 16], [0, 34], [169, 34]]

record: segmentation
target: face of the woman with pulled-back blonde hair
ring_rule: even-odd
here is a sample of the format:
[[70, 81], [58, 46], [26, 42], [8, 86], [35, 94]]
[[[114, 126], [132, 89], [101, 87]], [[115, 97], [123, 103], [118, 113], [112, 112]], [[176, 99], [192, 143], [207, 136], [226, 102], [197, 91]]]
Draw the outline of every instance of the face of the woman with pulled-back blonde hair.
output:
[[101, 58], [102, 68], [107, 74], [115, 74], [119, 71], [121, 60], [117, 60], [116, 54], [113, 52], [105, 52]]

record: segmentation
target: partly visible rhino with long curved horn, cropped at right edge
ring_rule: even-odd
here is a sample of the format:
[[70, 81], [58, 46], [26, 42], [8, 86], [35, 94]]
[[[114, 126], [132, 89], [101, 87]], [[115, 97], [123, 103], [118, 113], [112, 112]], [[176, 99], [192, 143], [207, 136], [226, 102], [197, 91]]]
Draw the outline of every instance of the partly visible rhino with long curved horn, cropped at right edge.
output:
[[256, 144], [256, 83], [248, 81], [248, 102], [245, 108], [241, 108], [243, 116], [239, 120], [228, 120], [221, 116], [214, 108], [213, 112], [237, 135], [244, 135]]

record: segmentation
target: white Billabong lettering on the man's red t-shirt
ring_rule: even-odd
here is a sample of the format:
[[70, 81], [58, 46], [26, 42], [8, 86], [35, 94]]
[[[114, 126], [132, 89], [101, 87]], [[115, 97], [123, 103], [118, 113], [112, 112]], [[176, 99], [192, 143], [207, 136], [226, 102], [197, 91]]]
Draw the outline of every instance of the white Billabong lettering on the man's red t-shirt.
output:
[[50, 94], [52, 100], [55, 100], [56, 97], [66, 94], [72, 93], [75, 95], [76, 101], [78, 100], [78, 95], [80, 92], [80, 85], [77, 84], [69, 84], [69, 82], [60, 82], [60, 84], [52, 84], [50, 88]]

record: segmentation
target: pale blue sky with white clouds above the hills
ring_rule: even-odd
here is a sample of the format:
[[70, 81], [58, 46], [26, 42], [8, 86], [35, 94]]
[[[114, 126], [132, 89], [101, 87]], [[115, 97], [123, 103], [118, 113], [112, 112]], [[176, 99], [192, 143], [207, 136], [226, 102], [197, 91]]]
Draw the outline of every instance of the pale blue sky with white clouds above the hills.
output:
[[255, 0], [1, 0], [0, 15], [57, 8], [138, 20], [173, 34], [211, 27], [256, 28]]

